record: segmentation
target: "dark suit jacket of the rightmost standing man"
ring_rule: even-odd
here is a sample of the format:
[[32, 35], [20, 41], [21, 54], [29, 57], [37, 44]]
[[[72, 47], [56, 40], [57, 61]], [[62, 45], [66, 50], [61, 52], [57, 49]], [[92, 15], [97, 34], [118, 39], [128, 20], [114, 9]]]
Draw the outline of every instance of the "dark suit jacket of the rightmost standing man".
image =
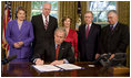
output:
[[129, 27], [118, 22], [111, 32], [110, 25], [101, 31], [101, 53], [125, 53], [130, 43]]

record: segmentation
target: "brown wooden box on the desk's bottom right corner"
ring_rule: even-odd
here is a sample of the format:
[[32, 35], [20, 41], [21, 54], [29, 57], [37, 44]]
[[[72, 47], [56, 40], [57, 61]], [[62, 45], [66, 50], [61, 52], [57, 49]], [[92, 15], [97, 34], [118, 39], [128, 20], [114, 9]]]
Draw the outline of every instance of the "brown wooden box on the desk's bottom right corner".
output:
[[111, 71], [113, 74], [130, 74], [130, 68], [129, 67], [112, 67]]

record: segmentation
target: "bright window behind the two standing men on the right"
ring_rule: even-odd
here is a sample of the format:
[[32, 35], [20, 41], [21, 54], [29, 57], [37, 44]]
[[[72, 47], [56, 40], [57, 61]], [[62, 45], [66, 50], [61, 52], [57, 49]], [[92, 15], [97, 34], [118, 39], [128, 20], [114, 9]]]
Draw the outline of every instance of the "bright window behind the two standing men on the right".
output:
[[115, 1], [89, 1], [89, 11], [93, 12], [93, 22], [107, 23], [109, 10], [115, 10]]

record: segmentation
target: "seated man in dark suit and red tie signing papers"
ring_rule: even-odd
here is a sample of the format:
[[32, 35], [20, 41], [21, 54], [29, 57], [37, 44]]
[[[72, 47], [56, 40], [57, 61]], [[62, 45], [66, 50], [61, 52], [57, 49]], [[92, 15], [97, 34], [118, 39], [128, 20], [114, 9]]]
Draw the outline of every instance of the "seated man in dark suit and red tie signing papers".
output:
[[73, 63], [74, 54], [71, 49], [71, 44], [64, 42], [64, 38], [66, 30], [58, 27], [54, 32], [54, 42], [47, 42], [44, 48], [38, 49], [39, 53], [33, 55], [33, 63], [37, 65], [43, 65], [44, 62], [51, 62], [52, 65]]

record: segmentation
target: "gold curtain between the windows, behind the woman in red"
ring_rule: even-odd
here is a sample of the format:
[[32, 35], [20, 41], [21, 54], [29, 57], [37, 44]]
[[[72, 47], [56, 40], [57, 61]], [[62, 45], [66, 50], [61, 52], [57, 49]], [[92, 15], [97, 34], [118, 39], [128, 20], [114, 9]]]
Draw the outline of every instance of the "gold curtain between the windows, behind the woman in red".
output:
[[[75, 29], [78, 1], [59, 1], [59, 26], [62, 26], [62, 18], [68, 15], [72, 19], [71, 29]], [[87, 11], [87, 2], [81, 1], [82, 19]], [[83, 22], [83, 21], [82, 21]]]

